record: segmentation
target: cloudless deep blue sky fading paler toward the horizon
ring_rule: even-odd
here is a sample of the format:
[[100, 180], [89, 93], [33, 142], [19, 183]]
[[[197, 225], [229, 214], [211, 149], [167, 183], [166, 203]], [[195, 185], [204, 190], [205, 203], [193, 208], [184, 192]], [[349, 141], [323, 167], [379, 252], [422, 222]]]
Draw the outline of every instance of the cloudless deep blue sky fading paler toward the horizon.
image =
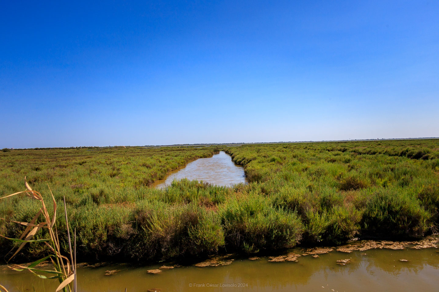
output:
[[439, 136], [439, 1], [64, 2], [2, 1], [0, 148]]

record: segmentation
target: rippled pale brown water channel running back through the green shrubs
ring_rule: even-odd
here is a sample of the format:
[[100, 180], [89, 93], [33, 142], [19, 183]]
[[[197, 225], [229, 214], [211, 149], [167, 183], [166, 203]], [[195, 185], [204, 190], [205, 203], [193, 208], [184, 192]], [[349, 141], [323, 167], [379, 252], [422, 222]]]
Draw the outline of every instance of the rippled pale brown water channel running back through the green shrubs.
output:
[[198, 158], [188, 163], [183, 169], [170, 172], [164, 179], [157, 180], [156, 188], [170, 185], [173, 179], [202, 180], [217, 186], [230, 186], [237, 183], [246, 183], [244, 168], [236, 165], [230, 155], [224, 151], [209, 158]]

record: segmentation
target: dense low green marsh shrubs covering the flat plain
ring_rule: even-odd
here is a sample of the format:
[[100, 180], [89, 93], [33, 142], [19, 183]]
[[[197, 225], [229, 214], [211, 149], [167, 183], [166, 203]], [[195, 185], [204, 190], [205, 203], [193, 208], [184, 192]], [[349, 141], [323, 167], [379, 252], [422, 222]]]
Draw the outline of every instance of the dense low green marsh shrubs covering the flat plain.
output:
[[[437, 231], [439, 140], [219, 147], [1, 152], [0, 195], [23, 190], [24, 176], [48, 196], [49, 184], [58, 201], [65, 195], [87, 259], [255, 253]], [[244, 165], [248, 184], [183, 179], [164, 190], [151, 187], [169, 170], [219, 149]], [[27, 198], [4, 199], [0, 217], [26, 221], [36, 208]], [[62, 215], [57, 222], [63, 230]], [[21, 231], [0, 224], [0, 234]], [[10, 244], [0, 239], [0, 253]], [[42, 251], [30, 244], [28, 252]]]

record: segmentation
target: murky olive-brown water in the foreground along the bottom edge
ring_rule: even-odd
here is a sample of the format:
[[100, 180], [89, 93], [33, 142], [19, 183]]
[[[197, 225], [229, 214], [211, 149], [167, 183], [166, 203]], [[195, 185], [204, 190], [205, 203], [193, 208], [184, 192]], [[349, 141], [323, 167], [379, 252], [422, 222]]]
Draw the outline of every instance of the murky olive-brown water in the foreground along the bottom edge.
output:
[[[300, 251], [297, 251], [300, 253]], [[363, 255], [362, 253], [366, 253]], [[336, 260], [351, 259], [340, 266]], [[407, 262], [400, 261], [408, 260]], [[161, 265], [134, 267], [115, 264], [78, 269], [79, 291], [358, 291], [416, 292], [439, 291], [438, 249], [333, 251], [314, 258], [298, 257], [298, 262], [268, 262], [268, 258], [236, 258], [219, 267], [176, 267], [159, 274], [147, 270]], [[0, 267], [0, 270], [4, 267]], [[106, 276], [107, 270], [120, 270]], [[0, 283], [15, 291], [54, 291], [58, 283], [4, 270]], [[154, 290], [152, 290], [154, 291]]]

